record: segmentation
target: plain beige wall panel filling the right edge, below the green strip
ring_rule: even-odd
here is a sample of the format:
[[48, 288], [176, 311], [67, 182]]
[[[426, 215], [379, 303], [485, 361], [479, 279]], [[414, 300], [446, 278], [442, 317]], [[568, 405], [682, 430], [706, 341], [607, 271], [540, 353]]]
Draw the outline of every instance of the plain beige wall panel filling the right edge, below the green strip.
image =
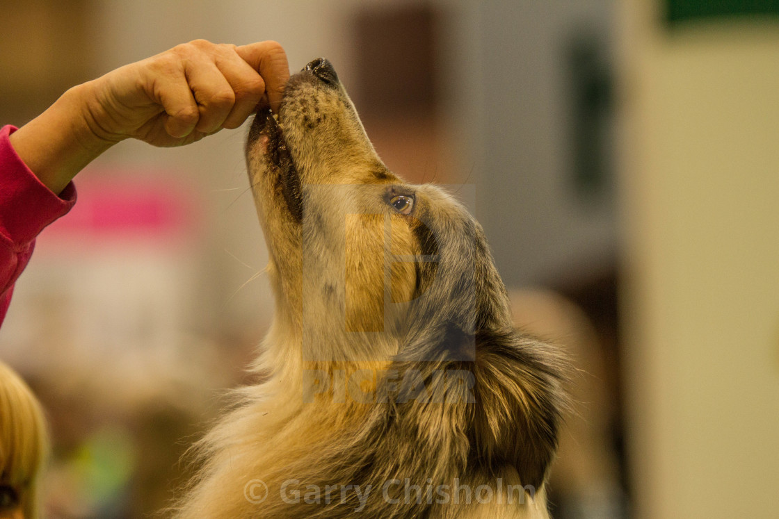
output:
[[636, 517], [779, 509], [779, 22], [622, 12]]

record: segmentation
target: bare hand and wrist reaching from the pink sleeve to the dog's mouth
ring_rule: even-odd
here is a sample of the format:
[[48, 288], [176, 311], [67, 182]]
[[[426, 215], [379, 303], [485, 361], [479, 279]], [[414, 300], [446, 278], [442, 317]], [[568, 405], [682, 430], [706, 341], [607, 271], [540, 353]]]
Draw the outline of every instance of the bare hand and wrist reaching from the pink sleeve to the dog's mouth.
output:
[[258, 103], [277, 110], [288, 78], [287, 55], [275, 41], [237, 47], [195, 40], [74, 86], [10, 140], [60, 193], [124, 139], [183, 146], [238, 128]]

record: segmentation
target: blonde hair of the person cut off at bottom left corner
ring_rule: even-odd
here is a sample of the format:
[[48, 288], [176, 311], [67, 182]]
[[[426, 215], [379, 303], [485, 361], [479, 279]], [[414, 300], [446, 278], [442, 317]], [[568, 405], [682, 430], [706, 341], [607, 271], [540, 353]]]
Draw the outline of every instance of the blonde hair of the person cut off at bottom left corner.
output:
[[0, 484], [19, 492], [24, 517], [39, 517], [38, 480], [48, 458], [48, 430], [30, 387], [0, 362]]

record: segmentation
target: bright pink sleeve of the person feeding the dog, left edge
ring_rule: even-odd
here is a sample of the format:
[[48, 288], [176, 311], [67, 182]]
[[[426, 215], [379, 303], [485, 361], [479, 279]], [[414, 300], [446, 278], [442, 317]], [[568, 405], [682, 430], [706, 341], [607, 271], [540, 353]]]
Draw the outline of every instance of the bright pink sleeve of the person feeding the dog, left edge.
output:
[[76, 188], [68, 184], [57, 196], [16, 155], [9, 136], [0, 130], [0, 324], [5, 318], [13, 284], [30, 261], [35, 237], [76, 203]]

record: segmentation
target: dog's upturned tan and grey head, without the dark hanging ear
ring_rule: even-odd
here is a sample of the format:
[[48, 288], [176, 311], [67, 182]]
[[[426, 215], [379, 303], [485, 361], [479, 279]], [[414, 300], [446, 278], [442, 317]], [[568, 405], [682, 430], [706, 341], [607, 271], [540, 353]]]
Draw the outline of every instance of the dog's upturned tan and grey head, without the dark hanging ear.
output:
[[387, 169], [329, 61], [290, 79], [277, 120], [257, 114], [247, 160], [278, 310], [304, 337], [375, 358], [410, 334], [510, 326], [481, 227]]

